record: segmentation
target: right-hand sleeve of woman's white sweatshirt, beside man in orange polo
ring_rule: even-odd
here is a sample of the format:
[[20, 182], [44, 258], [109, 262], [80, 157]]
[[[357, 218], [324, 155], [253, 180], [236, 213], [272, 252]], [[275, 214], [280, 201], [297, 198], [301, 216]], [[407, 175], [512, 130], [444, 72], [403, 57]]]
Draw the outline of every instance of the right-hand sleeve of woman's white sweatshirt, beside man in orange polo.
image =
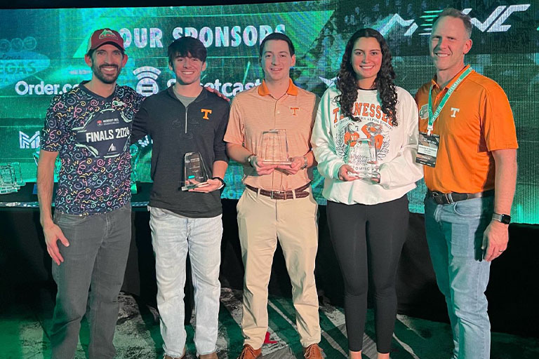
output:
[[423, 168], [415, 162], [418, 153], [418, 107], [413, 97], [404, 89], [399, 89], [401, 111], [398, 111], [399, 126], [406, 126], [406, 136], [399, 154], [391, 161], [380, 165], [380, 185], [385, 189], [407, 186], [423, 177]]

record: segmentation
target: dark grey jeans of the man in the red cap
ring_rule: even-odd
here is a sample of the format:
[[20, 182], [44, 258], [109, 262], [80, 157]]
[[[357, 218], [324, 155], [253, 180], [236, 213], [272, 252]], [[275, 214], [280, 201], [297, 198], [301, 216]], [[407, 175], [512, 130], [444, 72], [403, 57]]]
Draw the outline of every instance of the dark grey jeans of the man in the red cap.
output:
[[[53, 262], [58, 285], [51, 351], [54, 359], [72, 359], [79, 341], [81, 319], [90, 324], [90, 358], [114, 358], [112, 344], [118, 318], [118, 293], [124, 282], [131, 243], [131, 205], [99, 215], [54, 213], [69, 241], [58, 244], [64, 262]], [[88, 289], [90, 293], [88, 294]]]

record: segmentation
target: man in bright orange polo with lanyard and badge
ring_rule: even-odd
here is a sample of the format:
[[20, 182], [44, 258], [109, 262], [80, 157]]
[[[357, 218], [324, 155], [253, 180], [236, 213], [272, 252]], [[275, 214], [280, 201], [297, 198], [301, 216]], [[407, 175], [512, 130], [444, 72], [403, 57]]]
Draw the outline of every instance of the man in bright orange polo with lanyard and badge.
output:
[[[453, 329], [453, 358], [490, 356], [484, 294], [491, 261], [507, 248], [517, 181], [517, 135], [498, 83], [465, 66], [470, 17], [444, 10], [432, 27], [436, 76], [415, 97], [418, 161], [425, 164], [425, 230]], [[437, 152], [436, 152], [437, 150]]]

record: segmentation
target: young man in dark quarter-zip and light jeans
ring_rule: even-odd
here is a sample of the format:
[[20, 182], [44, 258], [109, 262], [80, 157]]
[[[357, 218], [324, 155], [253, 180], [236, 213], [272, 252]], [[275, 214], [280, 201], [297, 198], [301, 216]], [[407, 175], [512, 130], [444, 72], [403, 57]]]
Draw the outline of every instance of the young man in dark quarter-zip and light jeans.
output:
[[[153, 140], [149, 198], [150, 227], [157, 274], [164, 358], [184, 358], [185, 259], [191, 260], [199, 358], [215, 359], [219, 313], [219, 265], [222, 236], [220, 191], [228, 158], [223, 137], [229, 105], [201, 87], [206, 48], [181, 37], [168, 46], [168, 66], [176, 83], [148, 97], [133, 122], [131, 141]], [[182, 191], [184, 158], [199, 153], [208, 173], [204, 187]]]

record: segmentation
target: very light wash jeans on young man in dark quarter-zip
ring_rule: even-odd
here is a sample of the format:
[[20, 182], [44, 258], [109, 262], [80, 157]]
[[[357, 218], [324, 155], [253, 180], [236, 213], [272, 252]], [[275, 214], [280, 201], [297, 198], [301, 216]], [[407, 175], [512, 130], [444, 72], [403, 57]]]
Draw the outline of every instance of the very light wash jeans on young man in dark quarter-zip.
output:
[[181, 357], [184, 353], [187, 334], [184, 327], [183, 288], [185, 261], [189, 252], [197, 316], [194, 344], [199, 354], [213, 353], [217, 341], [221, 292], [222, 216], [188, 218], [156, 207], [149, 207], [149, 211], [163, 349], [172, 357]]

